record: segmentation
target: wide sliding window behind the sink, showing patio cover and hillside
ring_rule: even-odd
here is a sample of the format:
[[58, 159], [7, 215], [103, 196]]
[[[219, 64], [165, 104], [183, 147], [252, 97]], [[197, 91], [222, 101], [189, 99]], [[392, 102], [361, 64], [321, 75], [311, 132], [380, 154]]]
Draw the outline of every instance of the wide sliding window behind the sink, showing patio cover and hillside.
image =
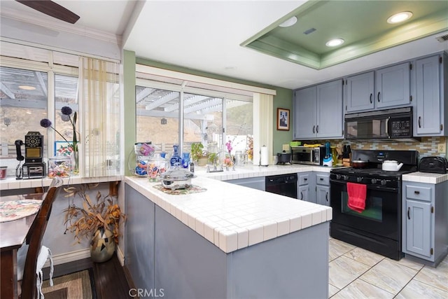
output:
[[137, 78], [137, 141], [151, 141], [168, 156], [175, 144], [190, 152], [191, 144], [201, 142], [204, 151], [224, 157], [228, 140], [232, 155], [246, 153], [253, 134], [251, 93], [230, 91], [237, 92], [155, 75]]

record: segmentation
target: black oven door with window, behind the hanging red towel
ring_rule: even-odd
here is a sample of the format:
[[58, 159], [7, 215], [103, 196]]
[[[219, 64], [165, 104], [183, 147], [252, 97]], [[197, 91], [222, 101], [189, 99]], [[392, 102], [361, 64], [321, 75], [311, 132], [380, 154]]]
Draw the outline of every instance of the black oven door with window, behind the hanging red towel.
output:
[[358, 213], [347, 205], [346, 182], [330, 180], [332, 222], [374, 235], [398, 240], [401, 233], [401, 195], [398, 188], [367, 185], [365, 209]]

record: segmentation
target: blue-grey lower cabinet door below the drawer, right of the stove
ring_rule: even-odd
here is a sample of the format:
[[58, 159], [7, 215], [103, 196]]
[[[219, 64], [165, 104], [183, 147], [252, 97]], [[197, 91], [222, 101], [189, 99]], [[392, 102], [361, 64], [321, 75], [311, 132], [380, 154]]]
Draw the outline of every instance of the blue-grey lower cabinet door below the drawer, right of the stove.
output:
[[430, 202], [406, 200], [406, 250], [430, 257]]

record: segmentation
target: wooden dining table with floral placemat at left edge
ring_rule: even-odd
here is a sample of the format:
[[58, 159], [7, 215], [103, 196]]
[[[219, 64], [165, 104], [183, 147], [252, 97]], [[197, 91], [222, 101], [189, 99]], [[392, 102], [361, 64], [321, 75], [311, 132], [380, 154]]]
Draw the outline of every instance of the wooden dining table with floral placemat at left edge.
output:
[[18, 249], [27, 239], [45, 193], [0, 197], [0, 298], [18, 298]]

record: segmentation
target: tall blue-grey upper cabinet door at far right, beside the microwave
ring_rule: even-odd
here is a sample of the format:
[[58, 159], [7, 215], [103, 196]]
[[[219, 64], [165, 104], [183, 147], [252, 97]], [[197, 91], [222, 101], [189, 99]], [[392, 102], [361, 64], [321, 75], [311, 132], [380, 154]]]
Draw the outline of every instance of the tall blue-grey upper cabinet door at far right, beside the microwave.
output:
[[416, 135], [436, 136], [442, 122], [439, 56], [416, 61]]

